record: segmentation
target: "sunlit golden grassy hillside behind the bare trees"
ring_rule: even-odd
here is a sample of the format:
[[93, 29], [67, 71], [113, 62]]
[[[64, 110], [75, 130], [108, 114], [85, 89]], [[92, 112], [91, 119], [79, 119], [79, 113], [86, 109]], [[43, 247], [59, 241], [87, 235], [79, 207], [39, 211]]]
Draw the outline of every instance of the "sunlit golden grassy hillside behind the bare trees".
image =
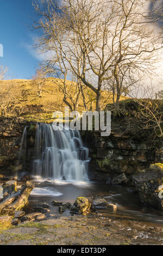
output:
[[[36, 84], [33, 80], [8, 80], [1, 81], [0, 87], [0, 104], [6, 99], [11, 99], [9, 109], [5, 116], [8, 117], [23, 117], [27, 120], [35, 121], [52, 121], [52, 113], [54, 111], [64, 111], [66, 106], [63, 102], [64, 95], [61, 92], [58, 84], [60, 80], [57, 78], [46, 78], [42, 87], [41, 97], [37, 95]], [[67, 81], [67, 88], [71, 95], [75, 92], [75, 84]], [[92, 110], [96, 108], [96, 97], [92, 90], [85, 88], [86, 102], [90, 108], [92, 101]], [[12, 100], [14, 99], [14, 101]], [[121, 100], [126, 99], [122, 97]], [[112, 95], [109, 92], [102, 92], [102, 108], [104, 109], [108, 103], [112, 103]], [[15, 111], [12, 111], [15, 109]], [[79, 97], [79, 112], [85, 111], [83, 105], [83, 97]], [[2, 115], [2, 113], [1, 113]]]

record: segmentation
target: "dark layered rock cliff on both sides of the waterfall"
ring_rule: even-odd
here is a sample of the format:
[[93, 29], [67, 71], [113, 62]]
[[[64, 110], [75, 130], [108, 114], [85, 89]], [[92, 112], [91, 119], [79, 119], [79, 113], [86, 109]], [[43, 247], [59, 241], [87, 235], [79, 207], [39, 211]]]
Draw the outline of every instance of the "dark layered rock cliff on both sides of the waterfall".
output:
[[[27, 126], [27, 150], [18, 163], [21, 139]], [[35, 143], [35, 122], [22, 119], [0, 119], [0, 174], [13, 175], [17, 169], [32, 172]], [[90, 149], [90, 178], [109, 181], [118, 174], [127, 176], [141, 172], [151, 163], [163, 163], [163, 154], [156, 152], [151, 141], [131, 138], [101, 137], [99, 132], [82, 131], [84, 145]]]

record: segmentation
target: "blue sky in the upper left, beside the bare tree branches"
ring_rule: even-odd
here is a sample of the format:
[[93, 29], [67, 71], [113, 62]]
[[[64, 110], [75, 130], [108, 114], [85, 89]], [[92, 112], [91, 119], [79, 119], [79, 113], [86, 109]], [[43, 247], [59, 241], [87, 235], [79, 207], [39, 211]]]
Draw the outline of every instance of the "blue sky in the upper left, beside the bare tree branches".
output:
[[41, 60], [31, 48], [35, 36], [29, 28], [32, 18], [32, 0], [0, 0], [0, 64], [8, 66], [13, 78], [31, 78]]

